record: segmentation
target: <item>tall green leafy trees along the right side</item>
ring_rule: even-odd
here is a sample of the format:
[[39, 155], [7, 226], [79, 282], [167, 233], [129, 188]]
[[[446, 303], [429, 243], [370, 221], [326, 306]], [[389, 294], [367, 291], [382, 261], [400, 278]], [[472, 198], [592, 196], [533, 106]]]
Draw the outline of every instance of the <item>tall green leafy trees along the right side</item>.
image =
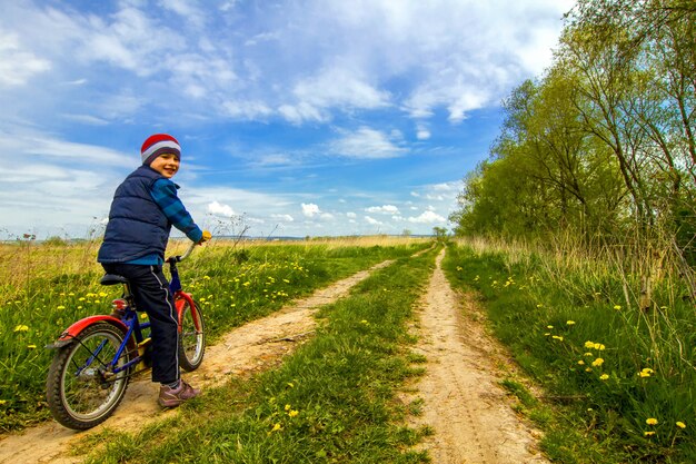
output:
[[659, 236], [694, 263], [696, 2], [579, 0], [551, 67], [505, 100], [458, 235]]

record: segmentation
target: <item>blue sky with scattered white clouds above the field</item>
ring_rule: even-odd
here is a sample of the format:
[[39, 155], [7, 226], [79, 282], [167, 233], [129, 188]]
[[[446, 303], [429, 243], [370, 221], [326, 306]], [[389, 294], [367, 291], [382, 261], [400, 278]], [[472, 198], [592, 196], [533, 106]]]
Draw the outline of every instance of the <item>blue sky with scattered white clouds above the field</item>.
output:
[[0, 0], [0, 239], [99, 230], [142, 141], [201, 227], [430, 234], [569, 0]]

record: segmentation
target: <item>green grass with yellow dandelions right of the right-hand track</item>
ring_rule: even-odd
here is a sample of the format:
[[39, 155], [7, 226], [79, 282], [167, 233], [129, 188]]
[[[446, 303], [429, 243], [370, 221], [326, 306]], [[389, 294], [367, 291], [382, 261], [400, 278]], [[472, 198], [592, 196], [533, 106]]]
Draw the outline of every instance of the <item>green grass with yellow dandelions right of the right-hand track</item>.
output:
[[656, 308], [643, 312], [625, 303], [632, 276], [606, 263], [557, 267], [453, 245], [444, 267], [455, 287], [478, 292], [495, 335], [545, 389], [536, 403], [504, 384], [545, 430], [549, 457], [696, 462], [696, 314], [668, 297], [682, 289], [658, 287]]

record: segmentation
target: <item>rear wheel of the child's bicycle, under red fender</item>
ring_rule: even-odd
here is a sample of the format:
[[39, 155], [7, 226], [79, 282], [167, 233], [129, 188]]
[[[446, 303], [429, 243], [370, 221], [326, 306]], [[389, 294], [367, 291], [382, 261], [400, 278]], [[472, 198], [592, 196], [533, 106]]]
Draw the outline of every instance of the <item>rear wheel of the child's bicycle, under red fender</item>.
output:
[[[56, 421], [80, 431], [101, 424], [113, 413], [129, 381], [129, 369], [113, 374], [109, 365], [123, 337], [118, 327], [97, 323], [56, 353], [46, 383]], [[125, 365], [129, 358], [125, 349], [117, 365]]]

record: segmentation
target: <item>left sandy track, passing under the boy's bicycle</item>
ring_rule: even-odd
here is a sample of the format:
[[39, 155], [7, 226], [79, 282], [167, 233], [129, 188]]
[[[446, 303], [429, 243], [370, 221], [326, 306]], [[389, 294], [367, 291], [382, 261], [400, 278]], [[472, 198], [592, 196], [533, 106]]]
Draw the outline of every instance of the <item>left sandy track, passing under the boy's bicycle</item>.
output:
[[[297, 346], [297, 340], [309, 335], [315, 327], [314, 313], [322, 305], [348, 294], [350, 288], [367, 278], [372, 270], [392, 261], [384, 261], [317, 290], [310, 297], [294, 302], [262, 319], [253, 320], [228, 333], [215, 346], [206, 348], [206, 358], [199, 369], [183, 377], [195, 386], [220, 385], [230, 376], [264, 369]], [[145, 378], [130, 383], [126, 397], [113, 415], [102, 425], [87, 432], [74, 432], [50, 422], [26, 430], [21, 434], [0, 437], [1, 464], [79, 463], [80, 456], [69, 456], [73, 441], [82, 440], [109, 428], [137, 430], [143, 423], [177, 409], [161, 409], [157, 405], [158, 385]]]

